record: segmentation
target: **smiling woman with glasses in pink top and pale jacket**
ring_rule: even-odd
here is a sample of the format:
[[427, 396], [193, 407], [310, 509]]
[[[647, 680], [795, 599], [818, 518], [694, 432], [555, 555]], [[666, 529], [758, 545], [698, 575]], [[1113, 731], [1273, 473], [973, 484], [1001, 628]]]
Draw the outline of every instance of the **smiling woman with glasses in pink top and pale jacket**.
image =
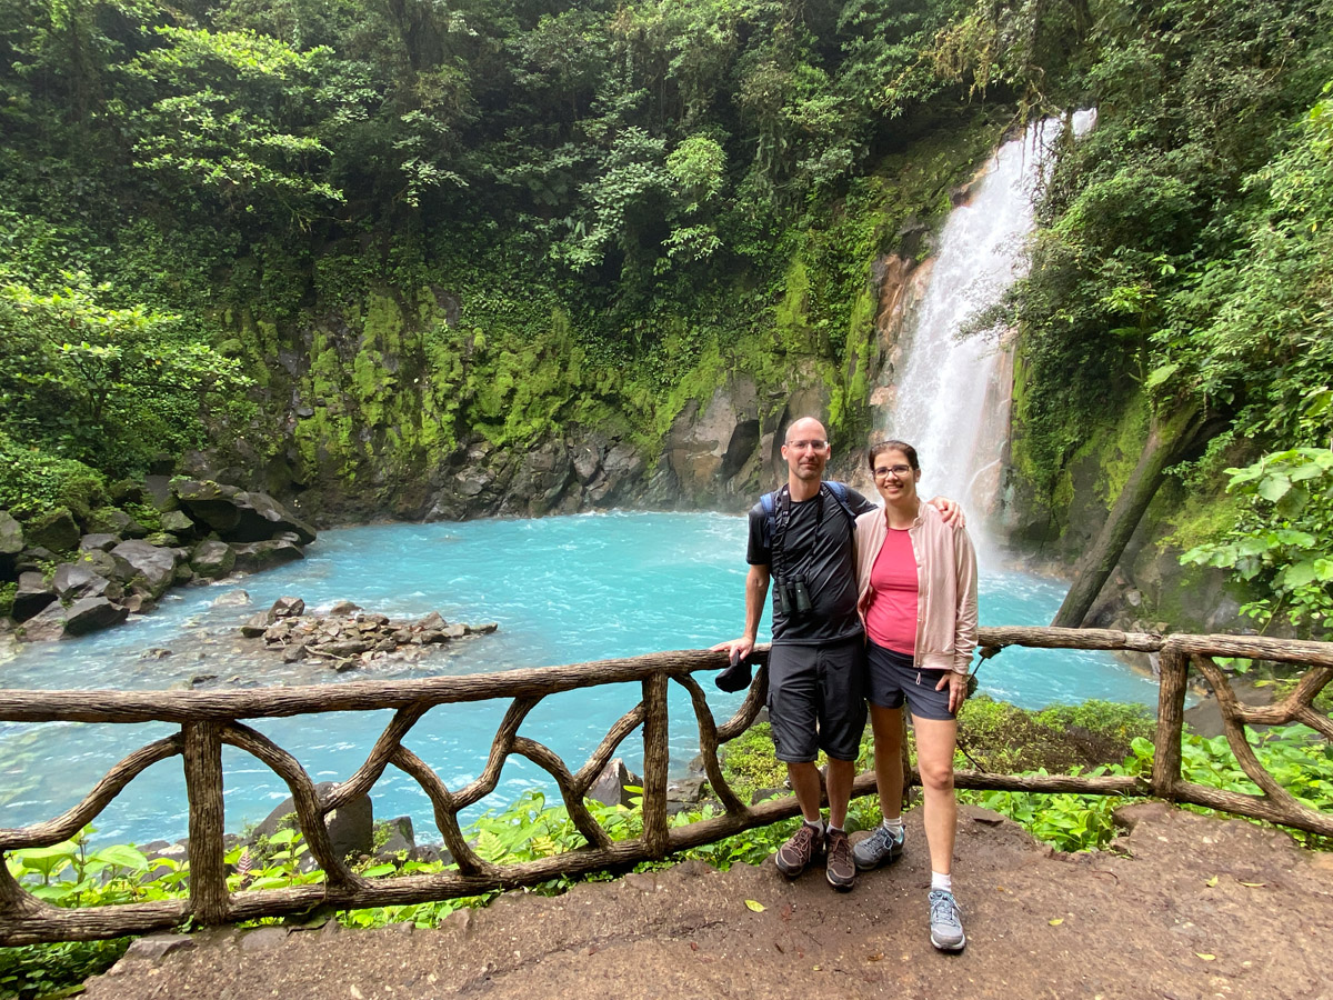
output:
[[882, 511], [856, 519], [858, 609], [869, 640], [870, 727], [884, 823], [853, 849], [857, 868], [902, 853], [902, 713], [916, 729], [917, 769], [925, 789], [930, 849], [930, 943], [966, 944], [953, 899], [953, 748], [957, 712], [968, 696], [968, 665], [977, 644], [977, 560], [961, 527], [917, 496], [916, 448], [884, 441], [870, 448], [870, 472]]

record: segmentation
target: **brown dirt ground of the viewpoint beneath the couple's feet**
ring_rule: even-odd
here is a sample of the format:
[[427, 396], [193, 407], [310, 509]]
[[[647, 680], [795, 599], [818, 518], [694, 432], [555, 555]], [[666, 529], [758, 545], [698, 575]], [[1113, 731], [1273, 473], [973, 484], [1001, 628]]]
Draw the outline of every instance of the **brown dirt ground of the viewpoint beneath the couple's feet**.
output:
[[916, 809], [902, 861], [846, 895], [822, 869], [788, 881], [772, 861], [729, 872], [689, 861], [556, 899], [509, 893], [433, 931], [147, 937], [87, 996], [1333, 1000], [1333, 856], [1158, 803], [1121, 816], [1117, 852], [1056, 855], [964, 808], [961, 955], [930, 947]]

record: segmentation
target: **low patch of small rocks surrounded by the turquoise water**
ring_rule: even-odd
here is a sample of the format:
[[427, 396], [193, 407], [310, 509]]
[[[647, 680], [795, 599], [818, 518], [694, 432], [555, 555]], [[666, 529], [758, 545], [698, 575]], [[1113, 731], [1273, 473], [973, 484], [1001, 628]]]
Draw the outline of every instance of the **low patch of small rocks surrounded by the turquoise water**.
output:
[[343, 672], [389, 656], [412, 659], [428, 645], [487, 635], [496, 628], [495, 621], [449, 623], [437, 611], [416, 620], [395, 620], [365, 612], [351, 601], [339, 601], [328, 615], [305, 615], [305, 601], [300, 597], [279, 597], [272, 608], [251, 616], [241, 625], [241, 635], [263, 639], [267, 648], [281, 653], [284, 663], [313, 657], [328, 660], [331, 668]]

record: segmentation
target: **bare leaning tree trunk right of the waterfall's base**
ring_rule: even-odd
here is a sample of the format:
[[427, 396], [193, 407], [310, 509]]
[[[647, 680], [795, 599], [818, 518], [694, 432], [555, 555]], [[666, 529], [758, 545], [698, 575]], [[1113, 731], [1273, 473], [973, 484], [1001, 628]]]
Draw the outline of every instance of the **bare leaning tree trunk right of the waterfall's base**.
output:
[[1157, 495], [1157, 488], [1165, 477], [1166, 468], [1185, 453], [1198, 437], [1202, 424], [1194, 409], [1177, 413], [1170, 420], [1156, 416], [1148, 431], [1148, 440], [1138, 456], [1134, 471], [1129, 473], [1120, 496], [1116, 497], [1106, 523], [1101, 525], [1096, 541], [1078, 560], [1073, 585], [1065, 595], [1064, 604], [1050, 621], [1054, 628], [1078, 628], [1097, 600], [1102, 584], [1120, 561], [1125, 545], [1129, 544], [1134, 528]]

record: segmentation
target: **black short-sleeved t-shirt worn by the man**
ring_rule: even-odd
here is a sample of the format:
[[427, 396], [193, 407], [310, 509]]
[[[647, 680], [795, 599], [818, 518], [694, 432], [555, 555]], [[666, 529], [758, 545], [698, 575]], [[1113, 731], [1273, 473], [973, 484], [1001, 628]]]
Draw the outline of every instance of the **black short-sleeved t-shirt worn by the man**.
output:
[[[850, 488], [846, 491], [846, 504], [853, 513], [874, 509], [874, 504]], [[792, 520], [786, 525], [777, 565], [773, 565], [773, 551], [764, 544], [766, 520], [762, 503], [754, 504], [749, 512], [749, 547], [745, 559], [750, 565], [769, 568], [774, 589], [778, 572], [784, 577], [802, 577], [812, 605], [809, 613], [789, 617], [778, 611], [774, 600], [773, 643], [822, 645], [860, 636], [853, 525], [837, 497], [828, 487], [821, 485], [814, 499], [792, 501]]]

